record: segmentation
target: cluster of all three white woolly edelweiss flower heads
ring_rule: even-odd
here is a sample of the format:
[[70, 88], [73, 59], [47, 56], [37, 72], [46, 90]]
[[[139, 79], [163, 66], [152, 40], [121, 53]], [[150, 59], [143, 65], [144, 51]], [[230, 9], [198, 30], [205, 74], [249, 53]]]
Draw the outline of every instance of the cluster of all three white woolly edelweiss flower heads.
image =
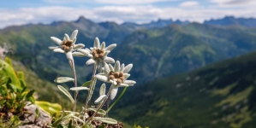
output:
[[[92, 48], [82, 49], [85, 47], [84, 44], [75, 44], [77, 32], [77, 30], [74, 30], [70, 38], [68, 34], [65, 34], [63, 41], [59, 38], [51, 37], [51, 40], [59, 46], [49, 47], [49, 49], [66, 54], [69, 61], [73, 60], [73, 56], [89, 57], [90, 59], [86, 61], [86, 65], [94, 64], [98, 67], [98, 74], [95, 77], [98, 80], [113, 85], [110, 92], [111, 100], [115, 98], [118, 87], [128, 87], [136, 84], [134, 80], [127, 80], [130, 76], [128, 72], [133, 67], [133, 64], [128, 64], [126, 67], [124, 64], [120, 66], [119, 61], [115, 63], [113, 58], [107, 56], [112, 49], [116, 48], [116, 44], [110, 44], [108, 47], [105, 47], [104, 42], [100, 44], [98, 38], [95, 38]], [[115, 63], [115, 66], [112, 67], [108, 63]]]

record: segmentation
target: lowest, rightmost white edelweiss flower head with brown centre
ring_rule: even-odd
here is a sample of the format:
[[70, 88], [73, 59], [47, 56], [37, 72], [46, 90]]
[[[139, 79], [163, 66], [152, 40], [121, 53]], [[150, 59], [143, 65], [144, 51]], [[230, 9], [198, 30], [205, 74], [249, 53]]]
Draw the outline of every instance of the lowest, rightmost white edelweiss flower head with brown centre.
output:
[[127, 80], [130, 74], [128, 73], [133, 67], [133, 64], [128, 64], [124, 67], [124, 64], [120, 67], [120, 62], [116, 61], [114, 67], [110, 64], [104, 64], [103, 73], [98, 73], [95, 77], [98, 80], [109, 82], [113, 84], [112, 91], [110, 93], [110, 99], [113, 100], [116, 96], [118, 87], [128, 87], [136, 84], [134, 80]]

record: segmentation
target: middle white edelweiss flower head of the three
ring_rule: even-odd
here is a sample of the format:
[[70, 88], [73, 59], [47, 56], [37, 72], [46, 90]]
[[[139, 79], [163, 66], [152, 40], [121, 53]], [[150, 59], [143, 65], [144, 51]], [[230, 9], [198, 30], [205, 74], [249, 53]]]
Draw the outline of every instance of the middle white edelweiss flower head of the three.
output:
[[90, 65], [96, 62], [98, 65], [98, 71], [101, 72], [101, 68], [104, 67], [104, 62], [115, 62], [113, 58], [107, 56], [110, 51], [115, 48], [116, 44], [111, 44], [105, 48], [105, 43], [103, 42], [102, 44], [99, 44], [98, 38], [95, 38], [93, 48], [78, 49], [77, 51], [91, 58], [86, 61], [86, 65]]

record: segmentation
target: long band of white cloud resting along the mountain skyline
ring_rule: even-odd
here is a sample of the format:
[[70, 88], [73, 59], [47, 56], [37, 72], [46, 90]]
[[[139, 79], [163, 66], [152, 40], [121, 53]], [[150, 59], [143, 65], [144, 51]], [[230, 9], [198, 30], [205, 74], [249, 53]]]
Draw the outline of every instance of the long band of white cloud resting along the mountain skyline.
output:
[[94, 9], [68, 8], [61, 6], [0, 9], [0, 28], [11, 25], [23, 25], [27, 23], [51, 23], [57, 20], [77, 20], [80, 15], [94, 21], [134, 21], [136, 23], [150, 22], [151, 20], [173, 19], [203, 22], [212, 18], [223, 18], [225, 15], [235, 17], [254, 17], [254, 7], [232, 9], [217, 7], [197, 8], [158, 8], [152, 5], [130, 6], [104, 6]]

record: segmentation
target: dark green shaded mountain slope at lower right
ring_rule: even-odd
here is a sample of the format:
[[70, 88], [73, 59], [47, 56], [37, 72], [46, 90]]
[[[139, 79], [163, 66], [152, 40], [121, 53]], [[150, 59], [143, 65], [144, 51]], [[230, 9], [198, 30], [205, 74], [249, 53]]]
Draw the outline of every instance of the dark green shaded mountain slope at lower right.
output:
[[152, 128], [254, 128], [255, 67], [253, 52], [134, 86], [110, 115]]

